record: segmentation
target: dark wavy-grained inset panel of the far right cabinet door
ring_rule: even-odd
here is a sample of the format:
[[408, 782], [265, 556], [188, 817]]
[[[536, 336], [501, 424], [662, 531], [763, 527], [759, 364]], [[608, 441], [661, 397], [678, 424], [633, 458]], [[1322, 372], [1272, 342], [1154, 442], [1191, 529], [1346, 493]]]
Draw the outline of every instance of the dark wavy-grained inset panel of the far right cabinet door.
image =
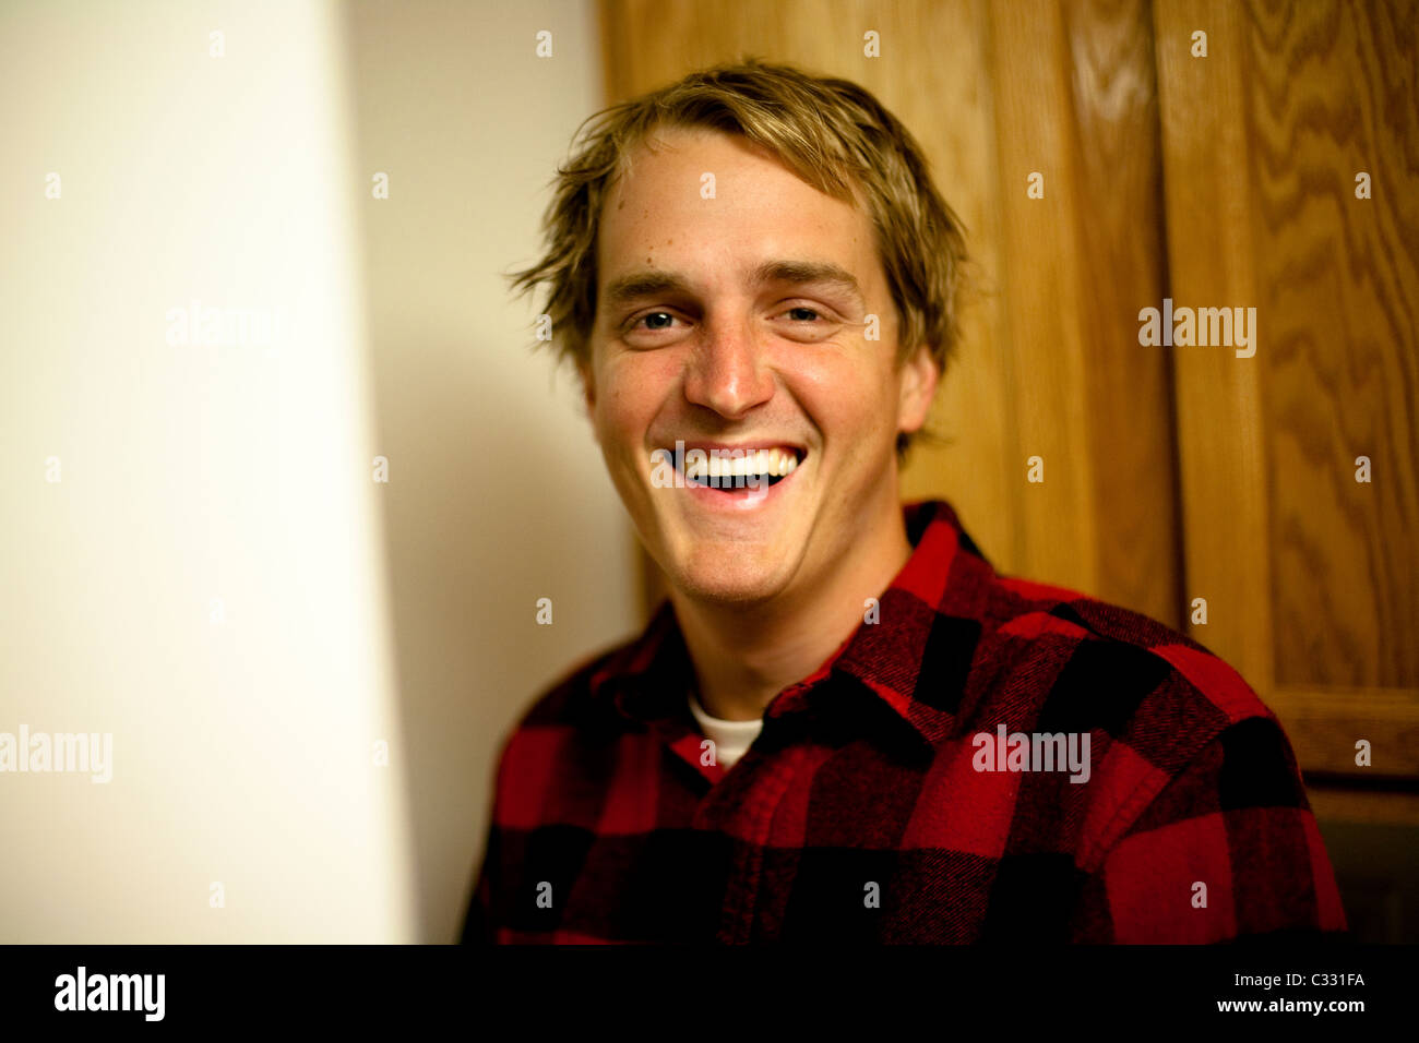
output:
[[1416, 14], [1256, 4], [1244, 27], [1277, 684], [1419, 685]]

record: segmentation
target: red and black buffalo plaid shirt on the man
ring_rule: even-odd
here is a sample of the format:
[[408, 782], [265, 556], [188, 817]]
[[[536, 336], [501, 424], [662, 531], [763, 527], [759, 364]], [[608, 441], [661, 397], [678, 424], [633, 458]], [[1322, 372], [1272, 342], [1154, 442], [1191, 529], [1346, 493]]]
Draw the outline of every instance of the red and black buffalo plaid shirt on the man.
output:
[[[1338, 932], [1290, 744], [1223, 661], [998, 576], [942, 502], [863, 623], [704, 763], [670, 605], [502, 749], [464, 941], [1218, 942]], [[1090, 735], [1087, 782], [978, 734]], [[1039, 765], [1034, 765], [1039, 768]]]

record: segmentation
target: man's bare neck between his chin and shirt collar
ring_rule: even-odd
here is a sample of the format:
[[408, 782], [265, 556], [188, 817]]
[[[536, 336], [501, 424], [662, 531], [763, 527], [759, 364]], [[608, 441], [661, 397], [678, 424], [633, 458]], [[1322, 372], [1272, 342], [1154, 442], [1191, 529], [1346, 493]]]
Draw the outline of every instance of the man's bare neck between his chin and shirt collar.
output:
[[762, 717], [775, 695], [817, 670], [857, 630], [864, 602], [878, 597], [911, 556], [901, 507], [890, 507], [868, 526], [868, 543], [822, 569], [810, 589], [749, 606], [671, 592], [705, 712], [725, 721]]

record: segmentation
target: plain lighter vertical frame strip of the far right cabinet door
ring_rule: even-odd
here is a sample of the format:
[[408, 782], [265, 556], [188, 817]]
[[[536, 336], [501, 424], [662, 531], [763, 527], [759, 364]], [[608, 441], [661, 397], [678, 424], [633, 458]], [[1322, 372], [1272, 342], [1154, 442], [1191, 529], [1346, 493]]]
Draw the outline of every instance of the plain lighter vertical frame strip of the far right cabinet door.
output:
[[[1210, 0], [1154, 6], [1169, 292], [1186, 307], [1257, 299], [1252, 150], [1237, 116], [1244, 17], [1239, 6]], [[1206, 58], [1191, 54], [1193, 30], [1208, 33]], [[1171, 352], [1174, 360], [1183, 597], [1208, 602], [1208, 623], [1189, 624], [1189, 633], [1264, 698], [1273, 688], [1273, 641], [1260, 366], [1223, 348], [1141, 351]]]

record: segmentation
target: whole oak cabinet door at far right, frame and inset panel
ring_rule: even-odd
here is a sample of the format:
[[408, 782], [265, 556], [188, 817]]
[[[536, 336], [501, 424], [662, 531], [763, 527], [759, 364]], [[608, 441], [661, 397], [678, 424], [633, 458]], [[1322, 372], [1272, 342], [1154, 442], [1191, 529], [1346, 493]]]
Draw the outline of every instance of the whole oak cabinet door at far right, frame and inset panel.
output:
[[1254, 358], [1174, 353], [1192, 633], [1357, 776], [1355, 738], [1419, 773], [1415, 13], [1155, 4], [1172, 295], [1257, 309]]

